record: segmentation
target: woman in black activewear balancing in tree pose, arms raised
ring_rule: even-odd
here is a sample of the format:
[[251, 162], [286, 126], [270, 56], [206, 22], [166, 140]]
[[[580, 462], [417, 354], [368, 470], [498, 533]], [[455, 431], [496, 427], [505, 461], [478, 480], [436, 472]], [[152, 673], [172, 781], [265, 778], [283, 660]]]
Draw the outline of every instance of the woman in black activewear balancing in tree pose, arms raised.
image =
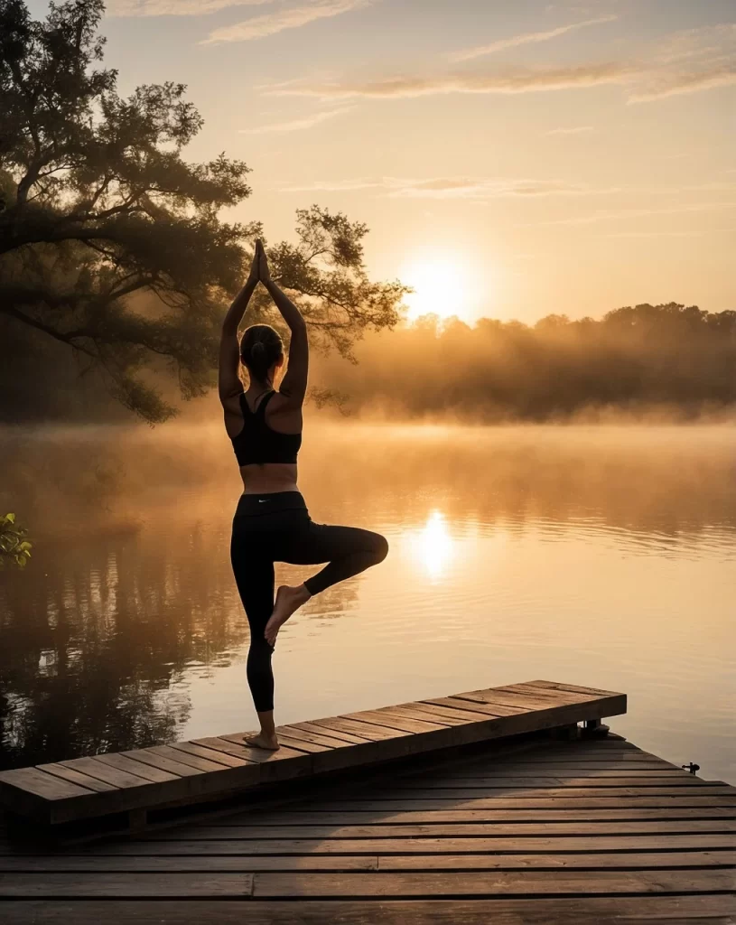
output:
[[[284, 350], [276, 330], [252, 325], [238, 342], [239, 323], [259, 281], [291, 332], [288, 369], [278, 391], [274, 379], [284, 363]], [[239, 376], [241, 363], [250, 380], [245, 390]], [[368, 530], [315, 524], [301, 497], [297, 453], [308, 364], [307, 326], [296, 305], [270, 277], [264, 246], [256, 241], [251, 275], [222, 327], [219, 393], [243, 479], [230, 558], [251, 627], [248, 684], [261, 722], [260, 733], [246, 736], [245, 741], [258, 748], [278, 748], [271, 655], [279, 629], [313, 595], [383, 561], [388, 551], [384, 537]], [[299, 586], [280, 586], [275, 603], [275, 561], [327, 565]]]

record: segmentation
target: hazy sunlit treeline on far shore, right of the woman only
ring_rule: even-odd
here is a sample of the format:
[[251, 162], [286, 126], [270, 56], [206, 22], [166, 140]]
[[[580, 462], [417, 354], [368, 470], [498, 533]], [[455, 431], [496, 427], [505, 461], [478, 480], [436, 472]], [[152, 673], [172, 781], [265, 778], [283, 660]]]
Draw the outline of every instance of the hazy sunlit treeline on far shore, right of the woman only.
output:
[[534, 327], [425, 315], [366, 338], [356, 352], [356, 366], [319, 364], [321, 384], [348, 393], [356, 410], [491, 421], [736, 404], [736, 311], [674, 302], [619, 308], [600, 320], [550, 314]]

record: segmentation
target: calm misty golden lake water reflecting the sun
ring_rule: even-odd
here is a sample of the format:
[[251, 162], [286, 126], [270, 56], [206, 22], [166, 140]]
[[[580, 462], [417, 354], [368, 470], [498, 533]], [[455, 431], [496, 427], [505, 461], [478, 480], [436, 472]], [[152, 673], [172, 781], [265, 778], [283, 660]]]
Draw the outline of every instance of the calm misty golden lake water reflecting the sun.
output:
[[[0, 573], [2, 763], [253, 728], [219, 429], [0, 450], [35, 539]], [[625, 691], [618, 732], [736, 782], [734, 461], [726, 427], [313, 425], [313, 519], [390, 552], [281, 631], [277, 720], [546, 678]]]

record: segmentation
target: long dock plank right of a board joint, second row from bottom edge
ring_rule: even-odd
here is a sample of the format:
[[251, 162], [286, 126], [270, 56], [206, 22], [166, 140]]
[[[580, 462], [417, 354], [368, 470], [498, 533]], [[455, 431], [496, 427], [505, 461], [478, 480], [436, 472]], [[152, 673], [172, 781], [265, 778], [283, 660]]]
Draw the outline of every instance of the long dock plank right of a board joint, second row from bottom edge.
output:
[[733, 889], [730, 871], [721, 870], [525, 870], [472, 873], [257, 873], [253, 896], [489, 896], [715, 893]]

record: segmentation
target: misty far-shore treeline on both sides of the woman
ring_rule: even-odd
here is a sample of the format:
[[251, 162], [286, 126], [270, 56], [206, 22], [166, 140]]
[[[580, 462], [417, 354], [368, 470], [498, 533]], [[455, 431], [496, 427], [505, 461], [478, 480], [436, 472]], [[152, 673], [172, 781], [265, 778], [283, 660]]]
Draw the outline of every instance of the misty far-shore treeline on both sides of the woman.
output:
[[[0, 421], [125, 421], [83, 357], [0, 318]], [[352, 413], [544, 421], [586, 410], [669, 406], [683, 416], [736, 407], [736, 312], [637, 305], [600, 320], [550, 314], [534, 327], [425, 315], [358, 342], [358, 364], [314, 354], [311, 382]], [[154, 374], [153, 374], [154, 375]], [[160, 381], [167, 384], [163, 372]], [[209, 418], [214, 393], [183, 406]], [[218, 412], [216, 412], [218, 413]]]

